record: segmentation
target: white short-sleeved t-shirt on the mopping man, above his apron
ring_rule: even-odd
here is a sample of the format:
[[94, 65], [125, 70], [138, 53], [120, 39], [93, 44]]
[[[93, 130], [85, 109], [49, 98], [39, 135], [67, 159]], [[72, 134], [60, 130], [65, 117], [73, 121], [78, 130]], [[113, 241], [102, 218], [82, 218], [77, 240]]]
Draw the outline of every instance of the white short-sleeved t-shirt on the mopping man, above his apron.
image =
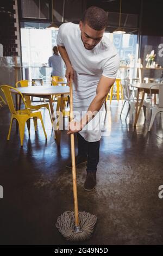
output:
[[120, 60], [116, 48], [105, 35], [92, 50], [86, 50], [79, 25], [68, 22], [60, 26], [57, 44], [66, 48], [78, 74], [116, 78]]

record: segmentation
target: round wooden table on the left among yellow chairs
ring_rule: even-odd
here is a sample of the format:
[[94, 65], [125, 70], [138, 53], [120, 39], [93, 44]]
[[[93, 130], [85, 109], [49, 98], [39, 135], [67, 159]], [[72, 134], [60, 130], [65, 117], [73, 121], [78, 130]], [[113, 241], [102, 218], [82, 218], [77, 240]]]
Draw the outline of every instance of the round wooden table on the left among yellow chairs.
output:
[[[55, 117], [54, 117], [54, 109], [53, 109], [53, 95], [60, 95], [60, 109], [59, 111], [62, 112], [63, 105], [64, 105], [64, 95], [70, 94], [70, 88], [68, 86], [30, 86], [30, 87], [20, 87], [17, 88], [23, 95], [33, 96], [33, 97], [42, 97], [44, 99], [49, 100], [49, 105], [51, 108], [51, 114], [53, 119], [53, 125], [57, 127], [55, 124]], [[16, 94], [16, 110], [18, 109], [17, 105], [17, 93], [15, 90], [11, 90], [12, 93]], [[57, 141], [57, 145], [60, 145], [60, 137], [61, 137], [61, 131], [55, 128], [55, 138]]]

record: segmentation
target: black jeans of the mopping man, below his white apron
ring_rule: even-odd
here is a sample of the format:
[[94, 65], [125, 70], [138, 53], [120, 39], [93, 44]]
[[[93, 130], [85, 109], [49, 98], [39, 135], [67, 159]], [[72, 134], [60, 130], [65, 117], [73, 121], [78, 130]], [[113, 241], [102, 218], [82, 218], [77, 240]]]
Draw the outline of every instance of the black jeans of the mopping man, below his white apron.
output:
[[78, 155], [87, 157], [87, 172], [96, 172], [99, 162], [99, 141], [87, 142], [77, 132]]

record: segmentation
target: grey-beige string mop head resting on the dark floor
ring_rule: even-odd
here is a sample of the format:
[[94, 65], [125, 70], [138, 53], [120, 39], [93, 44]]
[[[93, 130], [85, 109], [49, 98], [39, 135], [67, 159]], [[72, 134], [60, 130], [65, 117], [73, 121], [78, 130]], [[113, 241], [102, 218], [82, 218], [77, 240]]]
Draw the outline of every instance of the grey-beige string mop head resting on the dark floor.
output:
[[75, 230], [75, 218], [74, 212], [65, 211], [57, 219], [55, 224], [59, 232], [65, 237], [66, 240], [70, 241], [82, 241], [90, 239], [93, 228], [97, 222], [96, 215], [89, 214], [89, 212], [79, 212], [79, 233], [76, 233]]

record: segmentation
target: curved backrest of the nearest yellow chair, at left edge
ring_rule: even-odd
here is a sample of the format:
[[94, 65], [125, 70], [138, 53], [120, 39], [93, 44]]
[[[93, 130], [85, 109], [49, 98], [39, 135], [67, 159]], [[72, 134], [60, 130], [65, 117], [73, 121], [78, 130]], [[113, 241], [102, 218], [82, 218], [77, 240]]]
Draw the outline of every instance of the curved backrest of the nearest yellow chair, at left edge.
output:
[[17, 114], [15, 106], [14, 106], [14, 102], [12, 100], [11, 89], [15, 90], [18, 93], [18, 95], [21, 96], [22, 101], [25, 105], [25, 108], [27, 109], [28, 114], [30, 114], [28, 107], [26, 105], [26, 102], [24, 101], [23, 95], [16, 88], [11, 87], [11, 86], [6, 86], [6, 85], [2, 85], [2, 86], [0, 86], [0, 88], [5, 95], [5, 99], [7, 100], [11, 114]]

